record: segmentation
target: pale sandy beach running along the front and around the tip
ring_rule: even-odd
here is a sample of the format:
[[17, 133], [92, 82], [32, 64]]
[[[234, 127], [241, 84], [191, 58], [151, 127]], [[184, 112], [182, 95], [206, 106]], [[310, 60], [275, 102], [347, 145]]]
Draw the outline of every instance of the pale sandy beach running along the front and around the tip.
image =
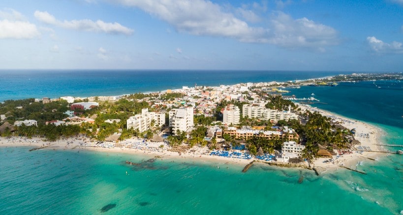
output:
[[[381, 137], [385, 136], [385, 132], [369, 123], [362, 122], [355, 119], [350, 119], [339, 114], [319, 109], [313, 108], [307, 105], [299, 104], [301, 108], [308, 109], [310, 111], [317, 111], [322, 115], [332, 117], [334, 120], [341, 122], [341, 125], [347, 129], [356, 129], [355, 139], [361, 142], [361, 146], [369, 147], [372, 151], [383, 151], [383, 147], [377, 146], [375, 144], [381, 142]], [[227, 158], [221, 156], [211, 156], [210, 151], [207, 147], [195, 146], [189, 149], [188, 152], [178, 153], [169, 151], [172, 149], [169, 145], [164, 142], [142, 142], [143, 139], [130, 138], [127, 140], [120, 141], [118, 144], [120, 147], [114, 146], [114, 143], [103, 143], [103, 145], [96, 145], [94, 142], [90, 142], [88, 138], [85, 137], [70, 137], [67, 139], [61, 139], [54, 142], [43, 141], [40, 138], [33, 137], [29, 139], [27, 137], [11, 137], [7, 140], [4, 137], [0, 137], [0, 147], [22, 147], [22, 146], [33, 146], [33, 147], [44, 147], [47, 150], [87, 150], [87, 151], [97, 151], [103, 153], [124, 153], [129, 155], [143, 156], [147, 158], [157, 158], [161, 160], [178, 160], [178, 161], [190, 161], [199, 163], [209, 163], [209, 164], [232, 164], [243, 167], [251, 161], [257, 159], [238, 159], [238, 158]], [[85, 144], [85, 145], [84, 145]], [[124, 146], [125, 144], [125, 146]], [[163, 148], [159, 148], [163, 145]], [[235, 151], [235, 150], [233, 150]], [[336, 151], [336, 150], [335, 150]], [[376, 161], [378, 157], [386, 156], [379, 152], [367, 152], [351, 149], [351, 154], [343, 154], [339, 156], [333, 156], [333, 161], [324, 162], [329, 160], [329, 158], [315, 158], [311, 163], [311, 167], [314, 167], [320, 174], [332, 173], [341, 166], [356, 169], [356, 164], [364, 160]], [[260, 161], [260, 160], [257, 160]], [[262, 162], [263, 163], [263, 162]], [[280, 162], [276, 162], [280, 164]], [[266, 164], [268, 165], [268, 164]], [[298, 164], [299, 165], [299, 164]], [[291, 168], [305, 168], [308, 167], [307, 162], [300, 163], [302, 167]]]

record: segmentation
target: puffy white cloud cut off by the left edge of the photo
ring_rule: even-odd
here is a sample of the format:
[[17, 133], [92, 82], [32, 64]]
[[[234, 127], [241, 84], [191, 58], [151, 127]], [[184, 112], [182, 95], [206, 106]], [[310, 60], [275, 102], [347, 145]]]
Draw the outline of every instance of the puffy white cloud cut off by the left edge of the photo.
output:
[[39, 35], [37, 27], [18, 11], [0, 10], [0, 39], [31, 39]]

